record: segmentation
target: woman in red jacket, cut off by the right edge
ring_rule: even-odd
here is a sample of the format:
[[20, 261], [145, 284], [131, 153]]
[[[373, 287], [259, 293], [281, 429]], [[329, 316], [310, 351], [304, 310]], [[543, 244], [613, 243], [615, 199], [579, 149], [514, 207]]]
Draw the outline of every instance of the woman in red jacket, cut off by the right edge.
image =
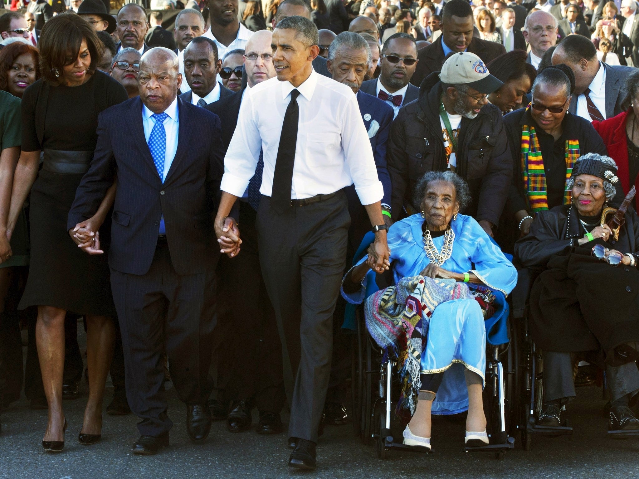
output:
[[[617, 176], [624, 194], [635, 185], [639, 191], [639, 71], [626, 79], [626, 99], [622, 103], [624, 112], [604, 121], [594, 121], [597, 133], [619, 169]], [[635, 208], [639, 211], [639, 195], [635, 197]]]

